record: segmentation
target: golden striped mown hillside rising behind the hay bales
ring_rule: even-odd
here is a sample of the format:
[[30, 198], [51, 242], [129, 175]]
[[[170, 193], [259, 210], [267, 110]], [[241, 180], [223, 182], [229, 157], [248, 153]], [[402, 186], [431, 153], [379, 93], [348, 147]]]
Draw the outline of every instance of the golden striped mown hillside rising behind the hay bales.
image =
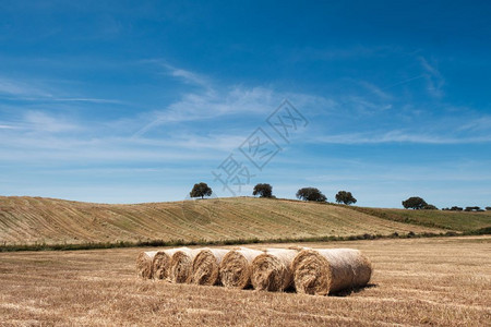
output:
[[444, 232], [326, 204], [219, 198], [105, 205], [0, 197], [0, 245], [145, 240], [272, 240]]

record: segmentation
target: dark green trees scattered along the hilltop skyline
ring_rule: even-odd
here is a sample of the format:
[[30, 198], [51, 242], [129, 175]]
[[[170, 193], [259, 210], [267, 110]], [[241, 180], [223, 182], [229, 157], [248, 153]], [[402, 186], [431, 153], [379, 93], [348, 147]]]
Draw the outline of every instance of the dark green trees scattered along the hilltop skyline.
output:
[[[213, 191], [206, 183], [197, 183], [194, 184], [193, 189], [190, 192], [191, 197], [201, 197], [212, 195]], [[252, 191], [252, 195], [259, 197], [266, 198], [276, 198], [273, 195], [273, 186], [267, 183], [259, 183], [254, 186]], [[311, 202], [327, 202], [327, 197], [322, 194], [322, 192], [316, 187], [302, 187], [297, 191], [296, 196], [298, 199], [302, 201], [311, 201]], [[337, 192], [335, 199], [338, 204], [351, 205], [357, 203], [355, 196], [352, 196], [351, 192], [339, 191]], [[403, 201], [403, 207], [405, 209], [415, 209], [415, 210], [438, 210], [439, 208], [432, 204], [427, 203], [422, 197], [411, 196], [405, 201]], [[451, 210], [451, 211], [484, 211], [480, 207], [466, 207], [465, 209], [462, 207], [454, 206], [452, 208], [443, 208], [442, 210]], [[491, 210], [491, 207], [486, 207], [486, 210]]]

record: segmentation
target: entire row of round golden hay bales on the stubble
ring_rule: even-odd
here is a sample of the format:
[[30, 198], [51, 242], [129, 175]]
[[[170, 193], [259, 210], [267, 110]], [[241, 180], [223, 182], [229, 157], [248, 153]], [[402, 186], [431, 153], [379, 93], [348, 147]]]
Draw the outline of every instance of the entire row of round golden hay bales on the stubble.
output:
[[267, 249], [240, 247], [168, 249], [142, 252], [136, 261], [143, 278], [171, 282], [224, 284], [255, 290], [325, 295], [343, 289], [366, 286], [371, 277], [370, 261], [352, 249]]

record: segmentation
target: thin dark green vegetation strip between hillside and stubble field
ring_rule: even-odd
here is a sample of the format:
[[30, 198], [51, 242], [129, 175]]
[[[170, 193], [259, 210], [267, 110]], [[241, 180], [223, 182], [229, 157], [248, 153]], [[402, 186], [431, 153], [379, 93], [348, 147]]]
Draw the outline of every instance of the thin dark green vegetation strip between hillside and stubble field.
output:
[[298, 239], [236, 239], [236, 240], [219, 240], [219, 241], [164, 241], [164, 240], [147, 240], [139, 242], [105, 242], [105, 243], [80, 243], [80, 244], [11, 244], [0, 245], [0, 252], [17, 252], [17, 251], [74, 251], [74, 250], [97, 250], [97, 249], [117, 249], [117, 247], [145, 247], [145, 246], [187, 246], [187, 245], [239, 245], [239, 244], [259, 244], [259, 243], [306, 243], [306, 242], [333, 242], [333, 241], [357, 241], [357, 240], [379, 240], [379, 239], [411, 239], [411, 238], [439, 238], [439, 237], [462, 237], [462, 235], [482, 235], [491, 234], [491, 227], [471, 231], [471, 232], [453, 232], [445, 233], [414, 233], [399, 234], [397, 232], [381, 235], [381, 234], [361, 234], [350, 237], [311, 237]]

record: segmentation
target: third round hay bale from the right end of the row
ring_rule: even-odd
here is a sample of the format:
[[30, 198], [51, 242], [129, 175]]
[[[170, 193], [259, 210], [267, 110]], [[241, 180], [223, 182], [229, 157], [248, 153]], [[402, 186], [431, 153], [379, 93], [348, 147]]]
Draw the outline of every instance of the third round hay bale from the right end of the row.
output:
[[241, 247], [228, 252], [220, 263], [220, 281], [228, 288], [244, 289], [251, 284], [252, 262], [264, 252]]

